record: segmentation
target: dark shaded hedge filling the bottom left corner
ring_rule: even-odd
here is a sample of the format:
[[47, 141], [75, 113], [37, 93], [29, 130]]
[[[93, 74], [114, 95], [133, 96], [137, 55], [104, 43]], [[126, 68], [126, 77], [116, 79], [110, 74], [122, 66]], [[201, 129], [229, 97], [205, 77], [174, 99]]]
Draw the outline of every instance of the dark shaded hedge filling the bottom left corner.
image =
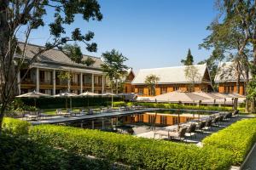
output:
[[0, 141], [0, 169], [113, 169], [113, 164], [108, 161], [89, 160], [83, 156], [37, 144], [27, 139], [1, 135]]

